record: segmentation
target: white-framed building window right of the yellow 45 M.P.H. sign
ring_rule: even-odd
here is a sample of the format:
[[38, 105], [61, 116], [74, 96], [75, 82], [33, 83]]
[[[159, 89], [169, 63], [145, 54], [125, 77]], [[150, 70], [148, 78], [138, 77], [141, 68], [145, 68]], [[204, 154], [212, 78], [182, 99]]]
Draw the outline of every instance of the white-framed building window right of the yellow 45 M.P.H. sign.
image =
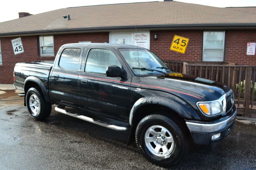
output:
[[225, 32], [204, 32], [203, 61], [224, 61]]

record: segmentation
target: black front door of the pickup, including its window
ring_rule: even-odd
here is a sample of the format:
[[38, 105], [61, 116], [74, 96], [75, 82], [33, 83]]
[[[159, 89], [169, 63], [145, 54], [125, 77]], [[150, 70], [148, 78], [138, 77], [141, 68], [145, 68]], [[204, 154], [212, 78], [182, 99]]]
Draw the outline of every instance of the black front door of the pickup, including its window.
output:
[[[106, 67], [122, 62], [116, 51], [90, 47], [86, 64], [78, 77], [78, 101], [81, 107], [112, 117], [127, 119], [130, 106], [131, 76], [127, 79], [106, 77]], [[124, 67], [123, 67], [124, 68]]]

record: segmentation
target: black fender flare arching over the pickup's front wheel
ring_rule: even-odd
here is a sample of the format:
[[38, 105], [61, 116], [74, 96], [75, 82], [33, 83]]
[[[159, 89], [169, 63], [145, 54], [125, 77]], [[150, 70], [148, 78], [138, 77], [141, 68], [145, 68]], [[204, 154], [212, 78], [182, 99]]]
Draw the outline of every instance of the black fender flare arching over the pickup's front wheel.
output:
[[167, 97], [158, 97], [158, 96], [151, 96], [151, 97], [142, 97], [138, 99], [134, 105], [132, 106], [132, 109], [130, 111], [130, 117], [129, 117], [129, 123], [132, 126], [134, 115], [136, 114], [136, 111], [142, 107], [143, 105], [148, 104], [157, 104], [162, 105], [165, 107], [168, 107], [178, 113], [181, 117], [184, 119], [200, 119], [198, 113], [184, 100], [172, 96], [172, 98]]

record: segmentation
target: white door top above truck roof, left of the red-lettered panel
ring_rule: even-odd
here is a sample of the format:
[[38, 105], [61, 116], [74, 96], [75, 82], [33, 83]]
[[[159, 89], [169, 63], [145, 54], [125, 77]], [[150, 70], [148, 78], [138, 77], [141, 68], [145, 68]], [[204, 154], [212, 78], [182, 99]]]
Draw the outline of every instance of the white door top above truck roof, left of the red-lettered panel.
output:
[[131, 33], [110, 33], [110, 43], [132, 45]]

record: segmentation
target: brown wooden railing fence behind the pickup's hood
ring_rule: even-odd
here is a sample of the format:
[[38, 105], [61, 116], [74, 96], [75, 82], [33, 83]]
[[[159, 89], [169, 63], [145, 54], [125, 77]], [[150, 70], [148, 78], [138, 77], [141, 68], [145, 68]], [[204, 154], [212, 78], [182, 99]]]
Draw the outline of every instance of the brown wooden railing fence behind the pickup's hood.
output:
[[256, 117], [256, 66], [190, 64], [181, 61], [164, 61], [168, 67], [182, 73], [211, 79], [232, 88], [239, 114]]

